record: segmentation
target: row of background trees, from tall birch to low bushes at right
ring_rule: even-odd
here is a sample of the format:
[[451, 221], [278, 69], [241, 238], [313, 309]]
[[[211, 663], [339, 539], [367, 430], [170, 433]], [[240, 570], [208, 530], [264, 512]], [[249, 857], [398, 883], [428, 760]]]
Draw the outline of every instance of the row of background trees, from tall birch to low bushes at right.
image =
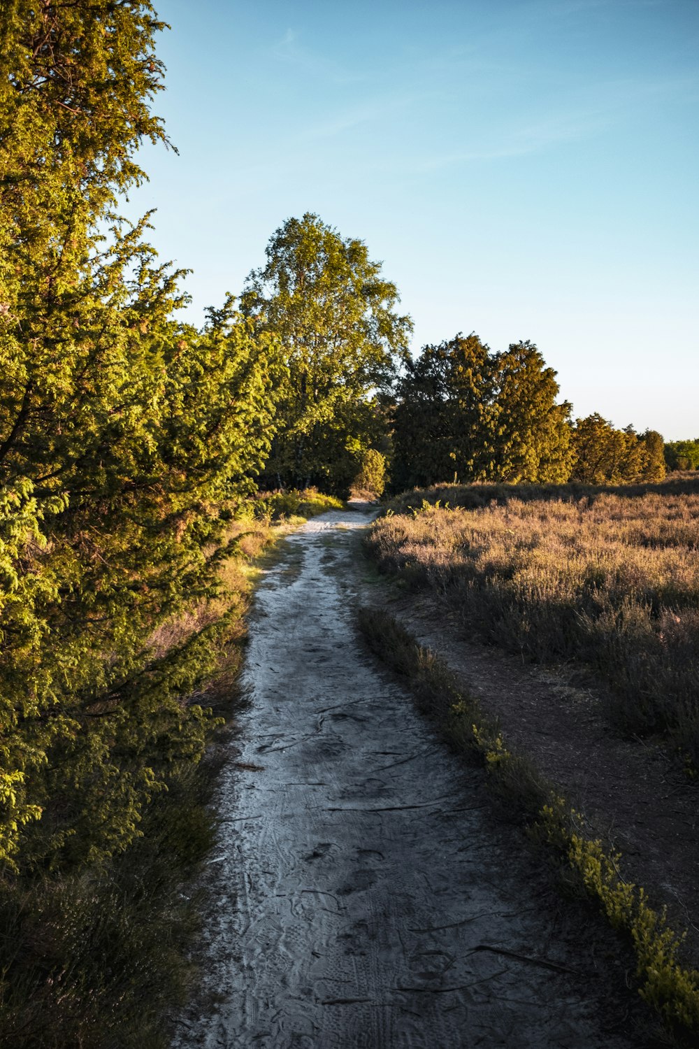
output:
[[289, 219], [254, 271], [242, 312], [278, 347], [270, 487], [344, 494], [390, 461], [395, 490], [450, 480], [657, 480], [660, 434], [573, 425], [555, 372], [530, 342], [494, 354], [476, 335], [408, 354], [397, 290], [359, 240], [316, 215]]

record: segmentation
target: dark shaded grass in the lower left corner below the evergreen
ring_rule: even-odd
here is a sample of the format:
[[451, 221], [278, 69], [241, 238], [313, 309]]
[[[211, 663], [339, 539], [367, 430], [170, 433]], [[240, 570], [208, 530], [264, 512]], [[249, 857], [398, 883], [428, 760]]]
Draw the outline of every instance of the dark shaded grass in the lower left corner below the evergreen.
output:
[[109, 862], [0, 883], [0, 1042], [14, 1049], [168, 1049], [198, 930], [191, 878], [213, 844], [200, 766], [169, 780], [144, 837]]

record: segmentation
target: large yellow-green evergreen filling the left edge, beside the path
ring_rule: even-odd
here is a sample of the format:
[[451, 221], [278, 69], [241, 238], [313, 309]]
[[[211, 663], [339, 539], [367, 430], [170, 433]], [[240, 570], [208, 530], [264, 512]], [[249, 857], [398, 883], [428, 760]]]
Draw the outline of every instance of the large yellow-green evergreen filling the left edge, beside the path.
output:
[[161, 25], [131, 0], [0, 13], [0, 858], [20, 865], [126, 848], [201, 754], [182, 698], [224, 624], [149, 639], [217, 592], [221, 508], [268, 449], [264, 339], [231, 302], [177, 323], [179, 274], [115, 213], [139, 143], [166, 141]]

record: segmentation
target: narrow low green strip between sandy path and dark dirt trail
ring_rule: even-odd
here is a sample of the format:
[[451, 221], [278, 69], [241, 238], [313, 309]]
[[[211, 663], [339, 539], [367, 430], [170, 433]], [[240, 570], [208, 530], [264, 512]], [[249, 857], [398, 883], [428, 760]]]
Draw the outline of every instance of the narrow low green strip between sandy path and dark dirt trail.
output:
[[620, 854], [590, 836], [584, 816], [526, 758], [508, 749], [497, 721], [390, 614], [363, 608], [359, 628], [374, 654], [405, 677], [420, 710], [451, 745], [484, 763], [508, 813], [519, 813], [534, 841], [553, 851], [567, 871], [566, 880], [590, 896], [626, 937], [636, 958], [641, 997], [680, 1045], [696, 1045], [699, 972], [683, 963], [681, 935], [668, 926], [662, 912], [649, 905], [642, 887], [625, 879]]

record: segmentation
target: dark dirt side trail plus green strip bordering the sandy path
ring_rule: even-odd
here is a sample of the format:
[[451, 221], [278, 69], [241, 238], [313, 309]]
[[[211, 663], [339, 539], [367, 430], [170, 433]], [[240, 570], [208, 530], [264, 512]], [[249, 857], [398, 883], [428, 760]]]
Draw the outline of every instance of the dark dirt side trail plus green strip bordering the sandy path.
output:
[[[370, 616], [388, 617], [384, 626], [376, 619], [364, 624], [374, 654], [409, 678], [418, 706], [452, 745], [480, 752], [499, 793], [517, 802], [526, 822], [533, 820], [540, 841], [554, 847], [631, 940], [639, 990], [676, 1044], [699, 1045], [699, 973], [691, 969], [699, 928], [690, 912], [699, 886], [686, 849], [682, 895], [669, 880], [677, 880], [673, 844], [681, 848], [682, 828], [699, 818], [694, 792], [678, 797], [680, 773], [667, 755], [616, 736], [588, 690], [551, 667], [524, 665], [466, 640], [445, 601], [421, 590], [407, 593], [366, 550], [364, 557], [372, 577], [361, 587], [363, 604]], [[381, 633], [388, 636], [376, 640]], [[461, 725], [454, 719], [459, 705]], [[563, 716], [551, 725], [554, 709]], [[661, 833], [654, 836], [653, 828]]]

